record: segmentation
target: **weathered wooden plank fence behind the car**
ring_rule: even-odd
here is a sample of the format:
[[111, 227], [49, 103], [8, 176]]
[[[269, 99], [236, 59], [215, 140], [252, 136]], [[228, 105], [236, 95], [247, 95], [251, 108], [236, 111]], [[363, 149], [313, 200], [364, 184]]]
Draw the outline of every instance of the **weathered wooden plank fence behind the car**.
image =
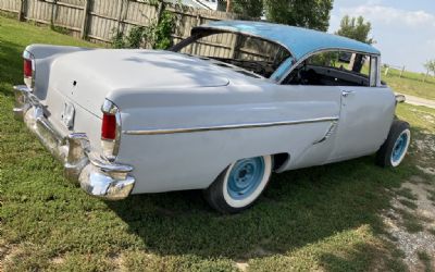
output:
[[[102, 42], [110, 42], [116, 32], [127, 34], [134, 26], [158, 21], [161, 9], [161, 3], [150, 4], [144, 0], [0, 0], [0, 11], [17, 13], [20, 20], [62, 27], [73, 36]], [[176, 14], [174, 42], [188, 37], [194, 26], [244, 18], [234, 13], [169, 4], [166, 10]]]

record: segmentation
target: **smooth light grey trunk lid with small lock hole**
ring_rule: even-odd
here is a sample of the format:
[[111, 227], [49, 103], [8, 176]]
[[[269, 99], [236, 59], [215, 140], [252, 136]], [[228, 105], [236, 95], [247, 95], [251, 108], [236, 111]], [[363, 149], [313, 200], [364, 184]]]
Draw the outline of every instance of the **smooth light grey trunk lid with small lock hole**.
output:
[[100, 49], [54, 60], [49, 89], [101, 116], [101, 104], [111, 91], [226, 86], [226, 74], [225, 69], [175, 52]]

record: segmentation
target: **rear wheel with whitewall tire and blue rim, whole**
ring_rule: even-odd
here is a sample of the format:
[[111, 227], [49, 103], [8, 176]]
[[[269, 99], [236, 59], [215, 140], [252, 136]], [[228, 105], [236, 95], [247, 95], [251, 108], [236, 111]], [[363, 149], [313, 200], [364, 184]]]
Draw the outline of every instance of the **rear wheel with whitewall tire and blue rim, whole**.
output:
[[237, 213], [259, 198], [272, 174], [272, 156], [238, 160], [204, 190], [206, 200], [222, 213]]

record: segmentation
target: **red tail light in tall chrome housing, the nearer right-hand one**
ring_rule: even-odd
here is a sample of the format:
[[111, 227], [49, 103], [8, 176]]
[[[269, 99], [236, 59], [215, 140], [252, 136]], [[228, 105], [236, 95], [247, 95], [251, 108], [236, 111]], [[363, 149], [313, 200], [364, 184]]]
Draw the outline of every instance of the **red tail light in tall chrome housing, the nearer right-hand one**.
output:
[[119, 152], [121, 140], [121, 113], [117, 107], [110, 100], [105, 100], [101, 107], [101, 146], [104, 157], [113, 161]]

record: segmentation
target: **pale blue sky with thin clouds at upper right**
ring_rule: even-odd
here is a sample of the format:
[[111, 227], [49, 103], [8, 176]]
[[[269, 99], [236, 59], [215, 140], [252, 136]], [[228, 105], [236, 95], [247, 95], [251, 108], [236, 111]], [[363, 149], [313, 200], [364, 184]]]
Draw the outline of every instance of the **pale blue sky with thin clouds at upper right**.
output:
[[425, 72], [423, 63], [435, 59], [435, 0], [334, 0], [331, 33], [346, 14], [371, 22], [383, 63]]

